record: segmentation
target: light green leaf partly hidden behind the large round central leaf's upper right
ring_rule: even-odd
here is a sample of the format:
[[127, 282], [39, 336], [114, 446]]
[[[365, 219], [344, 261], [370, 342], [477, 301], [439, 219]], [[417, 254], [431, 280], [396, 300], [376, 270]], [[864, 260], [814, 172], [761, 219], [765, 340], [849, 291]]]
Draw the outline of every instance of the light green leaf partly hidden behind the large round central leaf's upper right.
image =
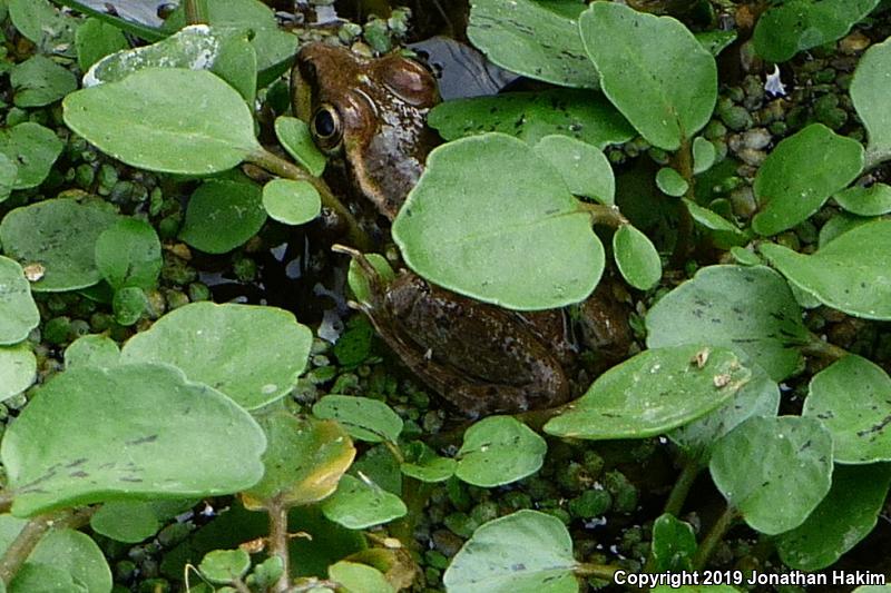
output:
[[569, 136], [546, 136], [535, 146], [566, 181], [569, 191], [600, 204], [613, 205], [616, 180], [603, 150]]

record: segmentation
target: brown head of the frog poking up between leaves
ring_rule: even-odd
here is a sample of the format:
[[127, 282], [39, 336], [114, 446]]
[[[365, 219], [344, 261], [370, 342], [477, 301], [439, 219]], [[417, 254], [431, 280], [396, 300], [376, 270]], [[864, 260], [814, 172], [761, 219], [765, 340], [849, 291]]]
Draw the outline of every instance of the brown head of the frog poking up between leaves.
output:
[[297, 55], [292, 99], [319, 148], [342, 157], [355, 191], [395, 218], [437, 144], [425, 125], [439, 101], [433, 75], [399, 53], [310, 43]]

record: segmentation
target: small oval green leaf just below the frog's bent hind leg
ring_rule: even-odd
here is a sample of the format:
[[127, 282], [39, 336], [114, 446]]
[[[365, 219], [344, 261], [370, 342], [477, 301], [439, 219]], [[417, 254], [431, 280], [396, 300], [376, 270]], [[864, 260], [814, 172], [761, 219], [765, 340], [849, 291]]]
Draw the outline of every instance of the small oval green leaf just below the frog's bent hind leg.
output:
[[313, 406], [319, 418], [337, 421], [350, 436], [366, 443], [395, 443], [402, 432], [402, 418], [376, 399], [349, 395], [326, 395]]

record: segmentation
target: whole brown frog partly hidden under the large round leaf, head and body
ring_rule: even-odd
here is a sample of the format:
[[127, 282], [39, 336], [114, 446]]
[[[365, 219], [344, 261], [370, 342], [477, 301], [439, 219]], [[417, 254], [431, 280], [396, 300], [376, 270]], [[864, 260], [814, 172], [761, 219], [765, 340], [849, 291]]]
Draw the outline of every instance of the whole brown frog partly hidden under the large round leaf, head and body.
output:
[[[378, 59], [322, 43], [304, 47], [293, 72], [294, 109], [316, 145], [342, 157], [355, 199], [392, 220], [414, 186], [435, 135], [424, 118], [438, 100], [433, 76], [391, 53]], [[603, 372], [630, 345], [627, 310], [609, 283], [568, 310], [510, 312], [403, 270], [385, 284], [361, 256], [372, 297], [362, 308], [402, 360], [469, 416], [567, 402], [587, 387], [576, 335], [593, 338]], [[575, 319], [570, 318], [574, 317]]]

